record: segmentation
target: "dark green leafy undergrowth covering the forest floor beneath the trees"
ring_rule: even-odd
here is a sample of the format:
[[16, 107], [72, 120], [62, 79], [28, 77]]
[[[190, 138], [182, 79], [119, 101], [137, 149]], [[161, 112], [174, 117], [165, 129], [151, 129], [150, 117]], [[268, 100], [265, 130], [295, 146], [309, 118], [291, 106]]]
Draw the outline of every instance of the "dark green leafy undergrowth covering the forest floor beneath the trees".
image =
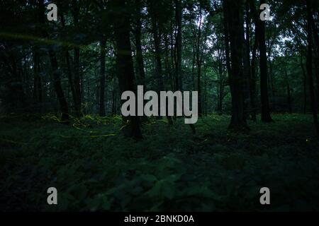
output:
[[[308, 114], [274, 114], [227, 130], [230, 117], [143, 124], [123, 138], [121, 117], [0, 117], [0, 210], [319, 210], [319, 142]], [[56, 187], [58, 205], [47, 205]], [[268, 187], [271, 205], [259, 203]]]

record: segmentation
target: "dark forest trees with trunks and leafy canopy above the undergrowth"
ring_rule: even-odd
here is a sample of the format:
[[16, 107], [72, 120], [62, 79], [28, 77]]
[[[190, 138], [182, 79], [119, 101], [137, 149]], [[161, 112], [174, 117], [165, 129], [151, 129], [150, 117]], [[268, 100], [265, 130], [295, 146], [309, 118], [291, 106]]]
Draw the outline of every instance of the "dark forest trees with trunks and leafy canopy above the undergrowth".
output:
[[55, 1], [49, 21], [50, 2], [2, 1], [1, 112], [120, 114], [137, 85], [196, 90], [200, 115], [231, 113], [237, 129], [316, 112], [318, 3], [268, 1], [262, 21], [264, 3]]

